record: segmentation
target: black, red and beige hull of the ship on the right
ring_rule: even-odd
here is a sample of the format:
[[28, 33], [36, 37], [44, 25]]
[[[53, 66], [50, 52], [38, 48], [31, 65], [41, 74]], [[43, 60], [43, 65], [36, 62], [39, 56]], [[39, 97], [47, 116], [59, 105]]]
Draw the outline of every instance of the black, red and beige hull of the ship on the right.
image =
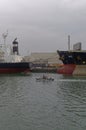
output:
[[85, 51], [58, 51], [63, 66], [58, 68], [59, 74], [86, 76], [86, 52]]

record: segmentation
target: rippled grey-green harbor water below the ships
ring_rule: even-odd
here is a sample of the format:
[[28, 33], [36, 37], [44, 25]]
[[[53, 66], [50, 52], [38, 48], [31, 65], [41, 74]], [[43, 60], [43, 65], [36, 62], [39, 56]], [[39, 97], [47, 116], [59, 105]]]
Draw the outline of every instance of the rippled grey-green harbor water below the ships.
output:
[[85, 130], [86, 77], [0, 76], [0, 130]]

